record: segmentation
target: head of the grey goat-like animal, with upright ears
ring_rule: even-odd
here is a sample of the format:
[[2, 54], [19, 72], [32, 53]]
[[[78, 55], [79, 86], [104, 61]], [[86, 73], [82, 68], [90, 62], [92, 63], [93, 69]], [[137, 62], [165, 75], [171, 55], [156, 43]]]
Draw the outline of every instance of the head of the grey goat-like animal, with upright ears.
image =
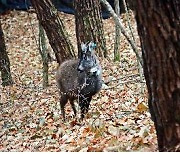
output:
[[82, 43], [80, 60], [78, 65], [79, 72], [96, 72], [98, 68], [98, 59], [95, 55], [96, 44], [93, 42]]

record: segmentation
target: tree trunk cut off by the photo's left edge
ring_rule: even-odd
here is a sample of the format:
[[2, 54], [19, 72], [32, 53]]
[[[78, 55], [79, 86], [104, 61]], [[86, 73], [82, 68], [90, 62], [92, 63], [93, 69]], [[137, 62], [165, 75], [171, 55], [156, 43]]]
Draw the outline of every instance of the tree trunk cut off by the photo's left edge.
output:
[[2, 78], [2, 85], [8, 86], [12, 85], [12, 77], [10, 71], [10, 61], [8, 54], [6, 52], [6, 46], [4, 41], [4, 34], [1, 27], [0, 21], [0, 71], [1, 71], [1, 78]]

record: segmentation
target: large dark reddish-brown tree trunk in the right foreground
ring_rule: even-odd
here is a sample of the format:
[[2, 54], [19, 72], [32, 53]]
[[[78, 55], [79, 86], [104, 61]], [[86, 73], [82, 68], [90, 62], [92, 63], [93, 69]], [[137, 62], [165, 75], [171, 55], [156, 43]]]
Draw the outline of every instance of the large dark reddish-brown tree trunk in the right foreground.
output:
[[180, 1], [135, 4], [159, 151], [180, 151]]

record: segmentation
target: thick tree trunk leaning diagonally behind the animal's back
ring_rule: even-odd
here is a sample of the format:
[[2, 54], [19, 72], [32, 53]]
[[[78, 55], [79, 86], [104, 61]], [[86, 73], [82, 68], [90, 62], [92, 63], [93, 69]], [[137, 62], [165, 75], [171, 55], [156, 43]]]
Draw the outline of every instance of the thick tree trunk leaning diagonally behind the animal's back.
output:
[[64, 60], [75, 57], [68, 34], [51, 0], [31, 0], [31, 3], [40, 24], [46, 31], [57, 62], [61, 64]]

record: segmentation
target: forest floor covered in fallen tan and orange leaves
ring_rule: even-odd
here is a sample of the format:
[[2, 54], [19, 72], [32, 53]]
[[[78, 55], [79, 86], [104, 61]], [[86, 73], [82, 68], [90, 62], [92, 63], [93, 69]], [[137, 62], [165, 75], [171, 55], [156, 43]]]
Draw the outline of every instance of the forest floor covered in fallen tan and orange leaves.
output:
[[[75, 48], [74, 16], [60, 13]], [[126, 16], [121, 21], [129, 33]], [[100, 59], [105, 85], [93, 97], [83, 122], [66, 105], [62, 121], [55, 82], [57, 63], [49, 63], [49, 87], [43, 89], [36, 15], [10, 11], [1, 16], [15, 84], [0, 86], [0, 151], [157, 151], [157, 138], [147, 105], [144, 77], [140, 80], [135, 54], [123, 35], [120, 62], [113, 61], [115, 28], [103, 20], [108, 58]], [[140, 49], [133, 13], [133, 34]], [[51, 56], [54, 57], [48, 45]], [[0, 81], [1, 82], [1, 81]], [[79, 107], [76, 103], [79, 112]]]

